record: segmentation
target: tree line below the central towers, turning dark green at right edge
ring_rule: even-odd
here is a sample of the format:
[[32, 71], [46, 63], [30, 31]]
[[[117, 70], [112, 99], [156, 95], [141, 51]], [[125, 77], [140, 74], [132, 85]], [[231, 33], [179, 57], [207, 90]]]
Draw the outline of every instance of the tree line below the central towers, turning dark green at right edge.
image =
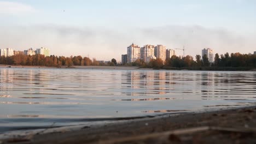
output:
[[162, 61], [162, 59], [151, 59], [147, 64], [141, 59], [130, 63], [128, 65], [139, 66], [143, 68], [191, 68], [191, 67], [256, 67], [256, 55], [252, 54], [241, 54], [241, 53], [225, 53], [219, 55], [216, 53], [214, 57], [214, 63], [210, 63], [206, 55], [196, 55], [195, 60], [193, 56], [177, 57], [172, 56], [171, 58]]

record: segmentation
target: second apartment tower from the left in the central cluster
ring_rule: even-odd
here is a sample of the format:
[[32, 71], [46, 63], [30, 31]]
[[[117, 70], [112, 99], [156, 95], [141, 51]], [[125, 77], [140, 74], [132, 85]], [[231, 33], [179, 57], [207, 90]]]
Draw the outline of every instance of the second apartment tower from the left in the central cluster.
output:
[[141, 47], [141, 59], [149, 63], [150, 59], [156, 59], [155, 57], [155, 46], [154, 45], [145, 45]]

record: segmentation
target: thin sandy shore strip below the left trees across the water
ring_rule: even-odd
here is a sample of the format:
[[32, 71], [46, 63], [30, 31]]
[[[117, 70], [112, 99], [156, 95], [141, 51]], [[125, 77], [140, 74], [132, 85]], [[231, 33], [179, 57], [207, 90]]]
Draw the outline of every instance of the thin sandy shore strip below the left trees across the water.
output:
[[[41, 69], [57, 69], [57, 67], [39, 67], [39, 66], [22, 66], [22, 65], [0, 65], [0, 68], [41, 68]], [[66, 66], [61, 66], [61, 69], [117, 69], [117, 70], [136, 70], [140, 69], [139, 67], [121, 67], [121, 66], [72, 66], [70, 68]], [[147, 69], [140, 69], [147, 70]]]

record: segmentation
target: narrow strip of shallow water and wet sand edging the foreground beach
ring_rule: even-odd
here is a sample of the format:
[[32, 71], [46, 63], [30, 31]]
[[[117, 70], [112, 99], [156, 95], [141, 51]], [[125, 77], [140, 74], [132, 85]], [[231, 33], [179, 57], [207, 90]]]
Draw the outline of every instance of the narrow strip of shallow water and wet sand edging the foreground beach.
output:
[[[251, 106], [240, 106], [240, 107], [225, 107], [222, 109], [208, 109], [208, 110], [199, 110], [193, 112], [177, 112], [177, 113], [163, 113], [161, 115], [155, 116], [145, 116], [145, 117], [126, 117], [126, 118], [109, 118], [111, 121], [101, 121], [100, 123], [91, 123], [91, 124], [80, 124], [80, 125], [69, 125], [63, 127], [47, 127], [47, 128], [39, 128], [39, 129], [28, 129], [28, 130], [14, 130], [14, 131], [6, 131], [0, 134], [0, 140], [5, 139], [13, 139], [19, 137], [32, 137], [33, 135], [44, 135], [50, 133], [67, 133], [71, 131], [79, 131], [83, 129], [95, 128], [101, 129], [106, 127], [106, 125], [123, 125], [129, 124], [131, 122], [147, 122], [147, 121], [155, 121], [157, 119], [165, 118], [165, 117], [176, 117], [176, 116], [183, 116], [191, 115], [191, 114], [209, 114], [209, 113], [216, 113], [216, 112], [228, 112], [230, 110], [240, 110], [240, 109], [247, 109], [247, 108], [254, 108], [256, 105]], [[114, 120], [115, 119], [115, 120]], [[147, 123], [146, 123], [147, 124]]]

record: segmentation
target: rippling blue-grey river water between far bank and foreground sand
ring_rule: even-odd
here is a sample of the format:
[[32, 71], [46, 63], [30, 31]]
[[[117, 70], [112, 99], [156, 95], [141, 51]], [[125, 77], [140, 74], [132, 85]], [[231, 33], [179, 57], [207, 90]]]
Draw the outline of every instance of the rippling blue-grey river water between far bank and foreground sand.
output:
[[0, 133], [256, 104], [256, 73], [0, 68]]

